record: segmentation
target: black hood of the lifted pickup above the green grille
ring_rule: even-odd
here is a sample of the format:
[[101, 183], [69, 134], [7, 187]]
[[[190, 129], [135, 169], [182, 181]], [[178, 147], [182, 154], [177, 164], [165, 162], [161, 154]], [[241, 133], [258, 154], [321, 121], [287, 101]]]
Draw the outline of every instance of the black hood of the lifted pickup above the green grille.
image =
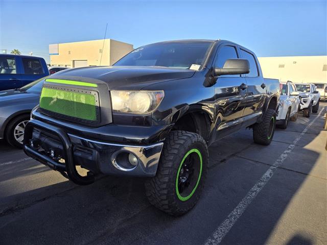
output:
[[107, 83], [109, 90], [138, 90], [145, 86], [177, 79], [191, 78], [194, 70], [149, 66], [94, 66], [63, 70], [52, 79], [97, 79]]

